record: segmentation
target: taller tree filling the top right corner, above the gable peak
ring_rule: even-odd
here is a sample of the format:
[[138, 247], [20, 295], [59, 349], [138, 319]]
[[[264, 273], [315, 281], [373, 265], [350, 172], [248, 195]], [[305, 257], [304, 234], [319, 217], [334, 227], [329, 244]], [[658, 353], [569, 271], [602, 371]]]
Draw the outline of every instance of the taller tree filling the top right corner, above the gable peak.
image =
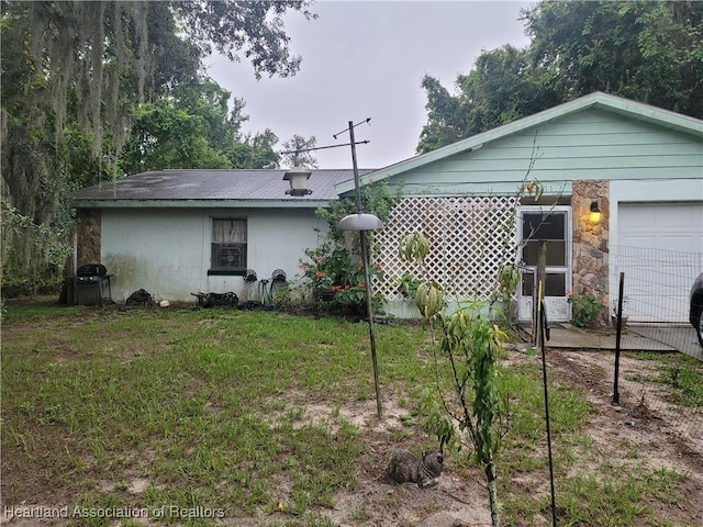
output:
[[703, 116], [700, 2], [539, 2], [523, 20], [568, 99], [600, 90]]

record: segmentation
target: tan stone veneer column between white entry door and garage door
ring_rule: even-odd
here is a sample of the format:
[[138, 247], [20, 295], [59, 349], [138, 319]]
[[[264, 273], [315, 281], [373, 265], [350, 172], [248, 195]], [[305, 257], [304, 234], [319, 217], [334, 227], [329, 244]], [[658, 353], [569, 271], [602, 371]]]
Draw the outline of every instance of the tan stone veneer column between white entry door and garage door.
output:
[[[609, 302], [609, 217], [610, 192], [605, 180], [573, 181], [573, 292], [593, 293], [605, 305]], [[590, 220], [591, 203], [598, 201], [601, 221]], [[603, 313], [606, 323], [609, 311]]]

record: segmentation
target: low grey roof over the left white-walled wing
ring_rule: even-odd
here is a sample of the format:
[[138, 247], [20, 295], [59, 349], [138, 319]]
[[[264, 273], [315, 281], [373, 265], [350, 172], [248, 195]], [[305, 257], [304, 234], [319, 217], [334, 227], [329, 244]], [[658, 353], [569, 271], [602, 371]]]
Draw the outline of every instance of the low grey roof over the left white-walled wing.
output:
[[[158, 170], [129, 176], [79, 190], [75, 201], [328, 201], [338, 198], [335, 184], [353, 180], [352, 169], [311, 169], [311, 194], [291, 197], [286, 170]], [[359, 169], [364, 176], [372, 170]]]

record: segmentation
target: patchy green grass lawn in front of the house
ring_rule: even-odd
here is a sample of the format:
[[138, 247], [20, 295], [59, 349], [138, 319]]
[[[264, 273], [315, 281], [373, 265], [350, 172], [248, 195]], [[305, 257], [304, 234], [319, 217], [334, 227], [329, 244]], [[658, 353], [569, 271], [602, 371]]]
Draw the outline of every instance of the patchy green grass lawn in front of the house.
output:
[[[408, 525], [449, 505], [484, 511], [482, 490], [469, 491], [480, 479], [470, 452], [453, 453], [444, 476], [466, 484], [464, 501], [381, 481], [393, 447], [436, 449], [416, 414], [435, 367], [417, 326], [378, 325], [377, 346], [384, 423], [375, 415], [366, 324], [11, 303], [2, 319], [2, 505], [25, 507], [18, 515], [67, 507], [62, 522], [72, 525], [113, 525], [105, 511], [149, 516], [121, 525], [246, 526], [404, 525], [389, 519], [392, 506], [416, 508]], [[549, 517], [537, 359], [506, 360], [503, 372], [506, 525]], [[550, 404], [560, 525], [695, 525], [684, 468], [604, 453], [584, 433], [598, 408], [581, 389], [555, 379]], [[353, 418], [359, 408], [365, 415]]]

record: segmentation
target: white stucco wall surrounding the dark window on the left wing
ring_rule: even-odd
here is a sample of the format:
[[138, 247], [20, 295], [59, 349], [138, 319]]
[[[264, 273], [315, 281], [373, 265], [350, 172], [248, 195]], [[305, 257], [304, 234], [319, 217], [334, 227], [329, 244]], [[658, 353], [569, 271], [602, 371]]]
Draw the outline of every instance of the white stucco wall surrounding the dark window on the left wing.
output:
[[157, 301], [227, 291], [255, 300], [256, 284], [242, 277], [208, 276], [212, 217], [247, 220], [247, 267], [259, 279], [276, 269], [293, 279], [303, 250], [319, 245], [314, 227], [326, 227], [309, 209], [103, 209], [101, 260], [114, 274], [112, 300], [124, 302], [137, 289]]

